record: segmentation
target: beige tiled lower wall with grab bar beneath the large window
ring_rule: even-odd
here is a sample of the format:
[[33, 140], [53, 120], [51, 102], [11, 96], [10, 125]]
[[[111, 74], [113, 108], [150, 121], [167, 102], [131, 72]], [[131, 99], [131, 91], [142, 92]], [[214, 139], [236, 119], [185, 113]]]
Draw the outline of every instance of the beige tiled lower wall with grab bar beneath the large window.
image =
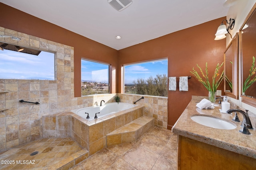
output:
[[[144, 95], [118, 94], [120, 101], [133, 104]], [[136, 105], [144, 106], [143, 114], [154, 117], [154, 124], [167, 129], [168, 121], [168, 98], [156, 96], [144, 96], [144, 99], [136, 102]]]

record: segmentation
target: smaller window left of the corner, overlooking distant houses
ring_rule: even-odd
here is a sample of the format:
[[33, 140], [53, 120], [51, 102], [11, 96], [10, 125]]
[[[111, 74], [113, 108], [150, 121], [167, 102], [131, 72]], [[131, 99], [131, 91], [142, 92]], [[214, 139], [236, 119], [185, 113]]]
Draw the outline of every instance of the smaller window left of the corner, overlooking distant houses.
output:
[[82, 96], [109, 93], [109, 65], [82, 59]]

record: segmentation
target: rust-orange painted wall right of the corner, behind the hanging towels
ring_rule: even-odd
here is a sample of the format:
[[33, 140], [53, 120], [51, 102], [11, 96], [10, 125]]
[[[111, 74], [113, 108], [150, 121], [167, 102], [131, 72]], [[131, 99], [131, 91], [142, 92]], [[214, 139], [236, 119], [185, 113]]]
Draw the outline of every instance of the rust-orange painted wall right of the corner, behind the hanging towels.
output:
[[[168, 129], [177, 121], [192, 95], [208, 96], [206, 88], [190, 71], [196, 64], [204, 70], [208, 62], [209, 72], [212, 73], [216, 65], [223, 62], [226, 39], [215, 41], [214, 34], [224, 19], [212, 20], [118, 51], [118, 66], [168, 57], [168, 76], [192, 76], [188, 80], [188, 92], [168, 91]], [[118, 73], [118, 92], [122, 92], [122, 78], [120, 72]], [[223, 83], [218, 89], [223, 91]]]

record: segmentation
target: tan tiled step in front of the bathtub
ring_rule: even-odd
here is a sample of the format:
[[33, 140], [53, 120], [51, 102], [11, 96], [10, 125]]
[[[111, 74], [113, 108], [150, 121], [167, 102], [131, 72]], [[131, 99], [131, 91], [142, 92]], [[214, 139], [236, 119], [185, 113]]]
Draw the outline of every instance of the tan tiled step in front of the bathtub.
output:
[[142, 116], [106, 135], [106, 146], [136, 141], [154, 126], [154, 118]]

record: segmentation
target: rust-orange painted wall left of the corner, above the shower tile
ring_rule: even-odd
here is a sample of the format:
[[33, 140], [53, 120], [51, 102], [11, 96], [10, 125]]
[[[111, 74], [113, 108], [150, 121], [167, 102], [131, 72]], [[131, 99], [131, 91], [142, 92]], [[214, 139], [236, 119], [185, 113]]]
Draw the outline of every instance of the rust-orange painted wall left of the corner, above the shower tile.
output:
[[[0, 26], [74, 47], [74, 93], [81, 96], [81, 58], [117, 66], [117, 50], [0, 3]], [[116, 77], [110, 78], [116, 93]]]

